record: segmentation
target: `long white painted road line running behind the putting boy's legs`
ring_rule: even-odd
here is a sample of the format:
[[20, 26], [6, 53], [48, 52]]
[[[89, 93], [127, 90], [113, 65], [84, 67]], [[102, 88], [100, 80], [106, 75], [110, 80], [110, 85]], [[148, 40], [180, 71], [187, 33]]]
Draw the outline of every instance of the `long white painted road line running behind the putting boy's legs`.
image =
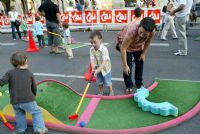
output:
[[[84, 79], [81, 75], [64, 75], [64, 74], [49, 74], [49, 73], [34, 73], [35, 76], [62, 77], [62, 78], [79, 78]], [[113, 81], [124, 81], [123, 78], [112, 78]]]

